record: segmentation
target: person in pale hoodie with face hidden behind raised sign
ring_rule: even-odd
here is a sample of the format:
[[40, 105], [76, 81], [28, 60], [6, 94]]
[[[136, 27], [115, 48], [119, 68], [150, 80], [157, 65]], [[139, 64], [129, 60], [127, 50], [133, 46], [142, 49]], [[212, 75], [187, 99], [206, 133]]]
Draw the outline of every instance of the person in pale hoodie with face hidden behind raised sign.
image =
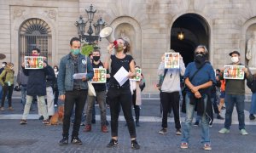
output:
[[[183, 58], [180, 54], [179, 59], [176, 59], [179, 63], [174, 63], [173, 65], [178, 65], [178, 68], [166, 68], [165, 67], [165, 59], [161, 58], [158, 68], [158, 75], [163, 77], [163, 82], [160, 87], [160, 101], [163, 108], [163, 116], [162, 116], [162, 129], [159, 131], [160, 134], [167, 133], [167, 115], [169, 111], [173, 110], [174, 121], [176, 134], [181, 135], [181, 124], [179, 120], [179, 91], [180, 88], [180, 76], [184, 75], [185, 65], [183, 63]], [[174, 67], [174, 66], [170, 66]]]

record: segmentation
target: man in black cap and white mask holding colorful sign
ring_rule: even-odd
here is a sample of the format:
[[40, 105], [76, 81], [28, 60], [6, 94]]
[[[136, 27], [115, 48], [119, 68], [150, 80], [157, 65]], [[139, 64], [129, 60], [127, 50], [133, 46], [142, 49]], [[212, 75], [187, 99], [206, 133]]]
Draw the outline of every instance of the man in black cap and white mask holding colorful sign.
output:
[[[232, 113], [234, 106], [236, 105], [237, 117], [239, 122], [239, 130], [242, 135], [247, 135], [247, 131], [245, 130], [245, 116], [244, 116], [244, 99], [245, 99], [245, 80], [247, 82], [253, 81], [253, 76], [251, 71], [247, 67], [247, 65], [241, 64], [241, 57], [238, 51], [233, 51], [230, 53], [232, 63], [234, 67], [238, 66], [241, 68], [241, 71], [244, 72], [244, 77], [225, 77], [225, 106], [226, 106], [226, 113], [225, 113], [225, 122], [224, 128], [218, 131], [218, 133], [230, 133], [230, 126], [232, 123]], [[229, 66], [230, 67], [230, 66]], [[225, 70], [224, 70], [225, 71]], [[237, 74], [238, 75], [238, 74]], [[241, 76], [241, 75], [240, 75]]]

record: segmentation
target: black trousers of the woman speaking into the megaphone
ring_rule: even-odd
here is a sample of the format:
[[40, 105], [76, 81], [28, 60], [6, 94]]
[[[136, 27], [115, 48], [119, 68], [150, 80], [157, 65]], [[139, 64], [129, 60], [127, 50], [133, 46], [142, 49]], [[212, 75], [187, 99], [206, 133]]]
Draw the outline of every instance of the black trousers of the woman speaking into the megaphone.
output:
[[109, 88], [108, 100], [111, 115], [111, 135], [118, 136], [118, 119], [120, 106], [124, 112], [127, 127], [131, 138], [136, 138], [136, 129], [131, 112], [131, 90], [130, 88]]

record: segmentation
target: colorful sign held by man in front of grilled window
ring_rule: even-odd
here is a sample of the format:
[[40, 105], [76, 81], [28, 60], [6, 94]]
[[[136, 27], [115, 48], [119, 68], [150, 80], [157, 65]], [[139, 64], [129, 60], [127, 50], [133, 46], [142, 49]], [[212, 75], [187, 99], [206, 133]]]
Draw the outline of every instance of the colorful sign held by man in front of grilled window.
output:
[[43, 56], [25, 56], [25, 69], [43, 69]]

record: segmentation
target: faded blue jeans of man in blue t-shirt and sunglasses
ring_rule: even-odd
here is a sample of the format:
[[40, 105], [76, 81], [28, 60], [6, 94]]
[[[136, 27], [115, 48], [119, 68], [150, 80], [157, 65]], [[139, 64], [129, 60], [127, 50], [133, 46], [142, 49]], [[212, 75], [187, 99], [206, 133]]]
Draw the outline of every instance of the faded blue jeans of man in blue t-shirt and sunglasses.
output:
[[[192, 124], [194, 112], [195, 112], [195, 105], [190, 104], [189, 94], [186, 94], [185, 101], [186, 101], [186, 118], [185, 122], [183, 123], [183, 143], [189, 143], [189, 132], [190, 127]], [[207, 95], [204, 96], [204, 103], [205, 103], [205, 110], [207, 108]], [[201, 116], [201, 143], [202, 144], [210, 144], [210, 133], [209, 133], [209, 122], [207, 121], [206, 112], [203, 113]]]

